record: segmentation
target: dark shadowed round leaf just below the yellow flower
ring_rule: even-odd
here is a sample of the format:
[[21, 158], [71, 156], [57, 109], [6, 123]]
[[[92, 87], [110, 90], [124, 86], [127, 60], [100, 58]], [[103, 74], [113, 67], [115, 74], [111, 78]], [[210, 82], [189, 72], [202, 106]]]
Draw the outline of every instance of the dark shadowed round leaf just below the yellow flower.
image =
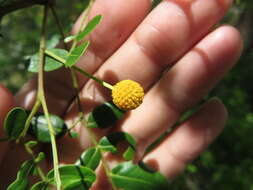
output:
[[124, 116], [124, 113], [124, 111], [111, 102], [106, 102], [93, 109], [88, 117], [87, 126], [102, 129], [110, 127], [120, 120]]

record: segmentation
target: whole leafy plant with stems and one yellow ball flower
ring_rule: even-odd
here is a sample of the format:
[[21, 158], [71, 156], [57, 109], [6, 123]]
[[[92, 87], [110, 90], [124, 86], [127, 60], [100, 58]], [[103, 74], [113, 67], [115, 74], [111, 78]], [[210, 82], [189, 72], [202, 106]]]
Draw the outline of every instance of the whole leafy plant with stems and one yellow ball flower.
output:
[[[138, 107], [144, 97], [143, 88], [137, 82], [124, 80], [112, 86], [76, 66], [76, 63], [89, 46], [89, 41], [86, 40], [87, 35], [99, 24], [102, 16], [97, 15], [87, 24], [84, 24], [87, 19], [84, 15], [79, 32], [76, 35], [65, 37], [53, 4], [49, 4], [47, 1], [41, 1], [41, 3], [43, 3], [43, 20], [39, 52], [31, 56], [28, 67], [28, 71], [38, 75], [36, 101], [31, 110], [25, 110], [21, 107], [13, 108], [4, 121], [7, 140], [23, 145], [27, 154], [30, 155], [30, 159], [20, 166], [16, 180], [7, 189], [90, 189], [96, 181], [95, 170], [99, 165], [102, 165], [114, 190], [167, 189], [168, 182], [163, 175], [150, 170], [142, 162], [136, 163], [134, 161], [136, 142], [130, 134], [115, 132], [97, 140], [93, 132], [93, 128], [104, 129], [113, 127], [115, 122], [122, 119], [128, 110]], [[87, 12], [89, 12], [92, 4], [93, 1], [91, 0], [85, 7]], [[64, 42], [71, 44], [71, 48], [46, 49], [45, 39], [49, 10], [53, 13], [52, 15], [64, 38]], [[66, 44], [65, 47], [67, 47]], [[76, 73], [78, 72], [95, 80], [99, 85], [111, 91], [112, 101], [98, 105], [89, 113], [88, 117], [84, 117], [81, 106], [79, 106], [79, 118], [73, 126], [67, 127], [62, 118], [49, 113], [44, 90], [44, 78], [46, 77], [44, 73], [61, 69], [62, 67], [65, 67], [71, 73], [72, 84], [77, 92]], [[78, 93], [76, 99], [80, 104]], [[86, 149], [80, 157], [77, 157], [75, 163], [59, 166], [56, 141], [66, 135], [75, 138], [78, 134], [73, 132], [73, 128], [80, 123], [87, 128], [87, 133], [92, 139], [93, 146]], [[32, 136], [34, 140], [27, 140], [27, 136]], [[31, 138], [29, 137], [29, 139]], [[45, 159], [45, 153], [37, 153], [33, 149], [38, 143], [51, 144], [53, 168], [48, 173], [45, 173], [41, 168], [41, 163]], [[127, 148], [119, 151], [117, 147], [119, 143], [125, 143]], [[117, 154], [117, 156], [122, 157], [123, 161], [111, 169], [105, 158], [107, 154]], [[38, 176], [40, 180], [36, 183], [31, 183], [29, 179], [33, 175]]]

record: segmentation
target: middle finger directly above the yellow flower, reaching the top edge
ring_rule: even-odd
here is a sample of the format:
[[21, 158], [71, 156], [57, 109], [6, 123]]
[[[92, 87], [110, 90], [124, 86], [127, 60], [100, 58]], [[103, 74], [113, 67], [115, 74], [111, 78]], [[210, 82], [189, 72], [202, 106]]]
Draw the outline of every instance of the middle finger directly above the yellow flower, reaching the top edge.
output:
[[[208, 33], [230, 4], [227, 0], [163, 1], [103, 64], [98, 76], [113, 83], [130, 78], [147, 88]], [[84, 88], [87, 97], [94, 91], [93, 84]]]

